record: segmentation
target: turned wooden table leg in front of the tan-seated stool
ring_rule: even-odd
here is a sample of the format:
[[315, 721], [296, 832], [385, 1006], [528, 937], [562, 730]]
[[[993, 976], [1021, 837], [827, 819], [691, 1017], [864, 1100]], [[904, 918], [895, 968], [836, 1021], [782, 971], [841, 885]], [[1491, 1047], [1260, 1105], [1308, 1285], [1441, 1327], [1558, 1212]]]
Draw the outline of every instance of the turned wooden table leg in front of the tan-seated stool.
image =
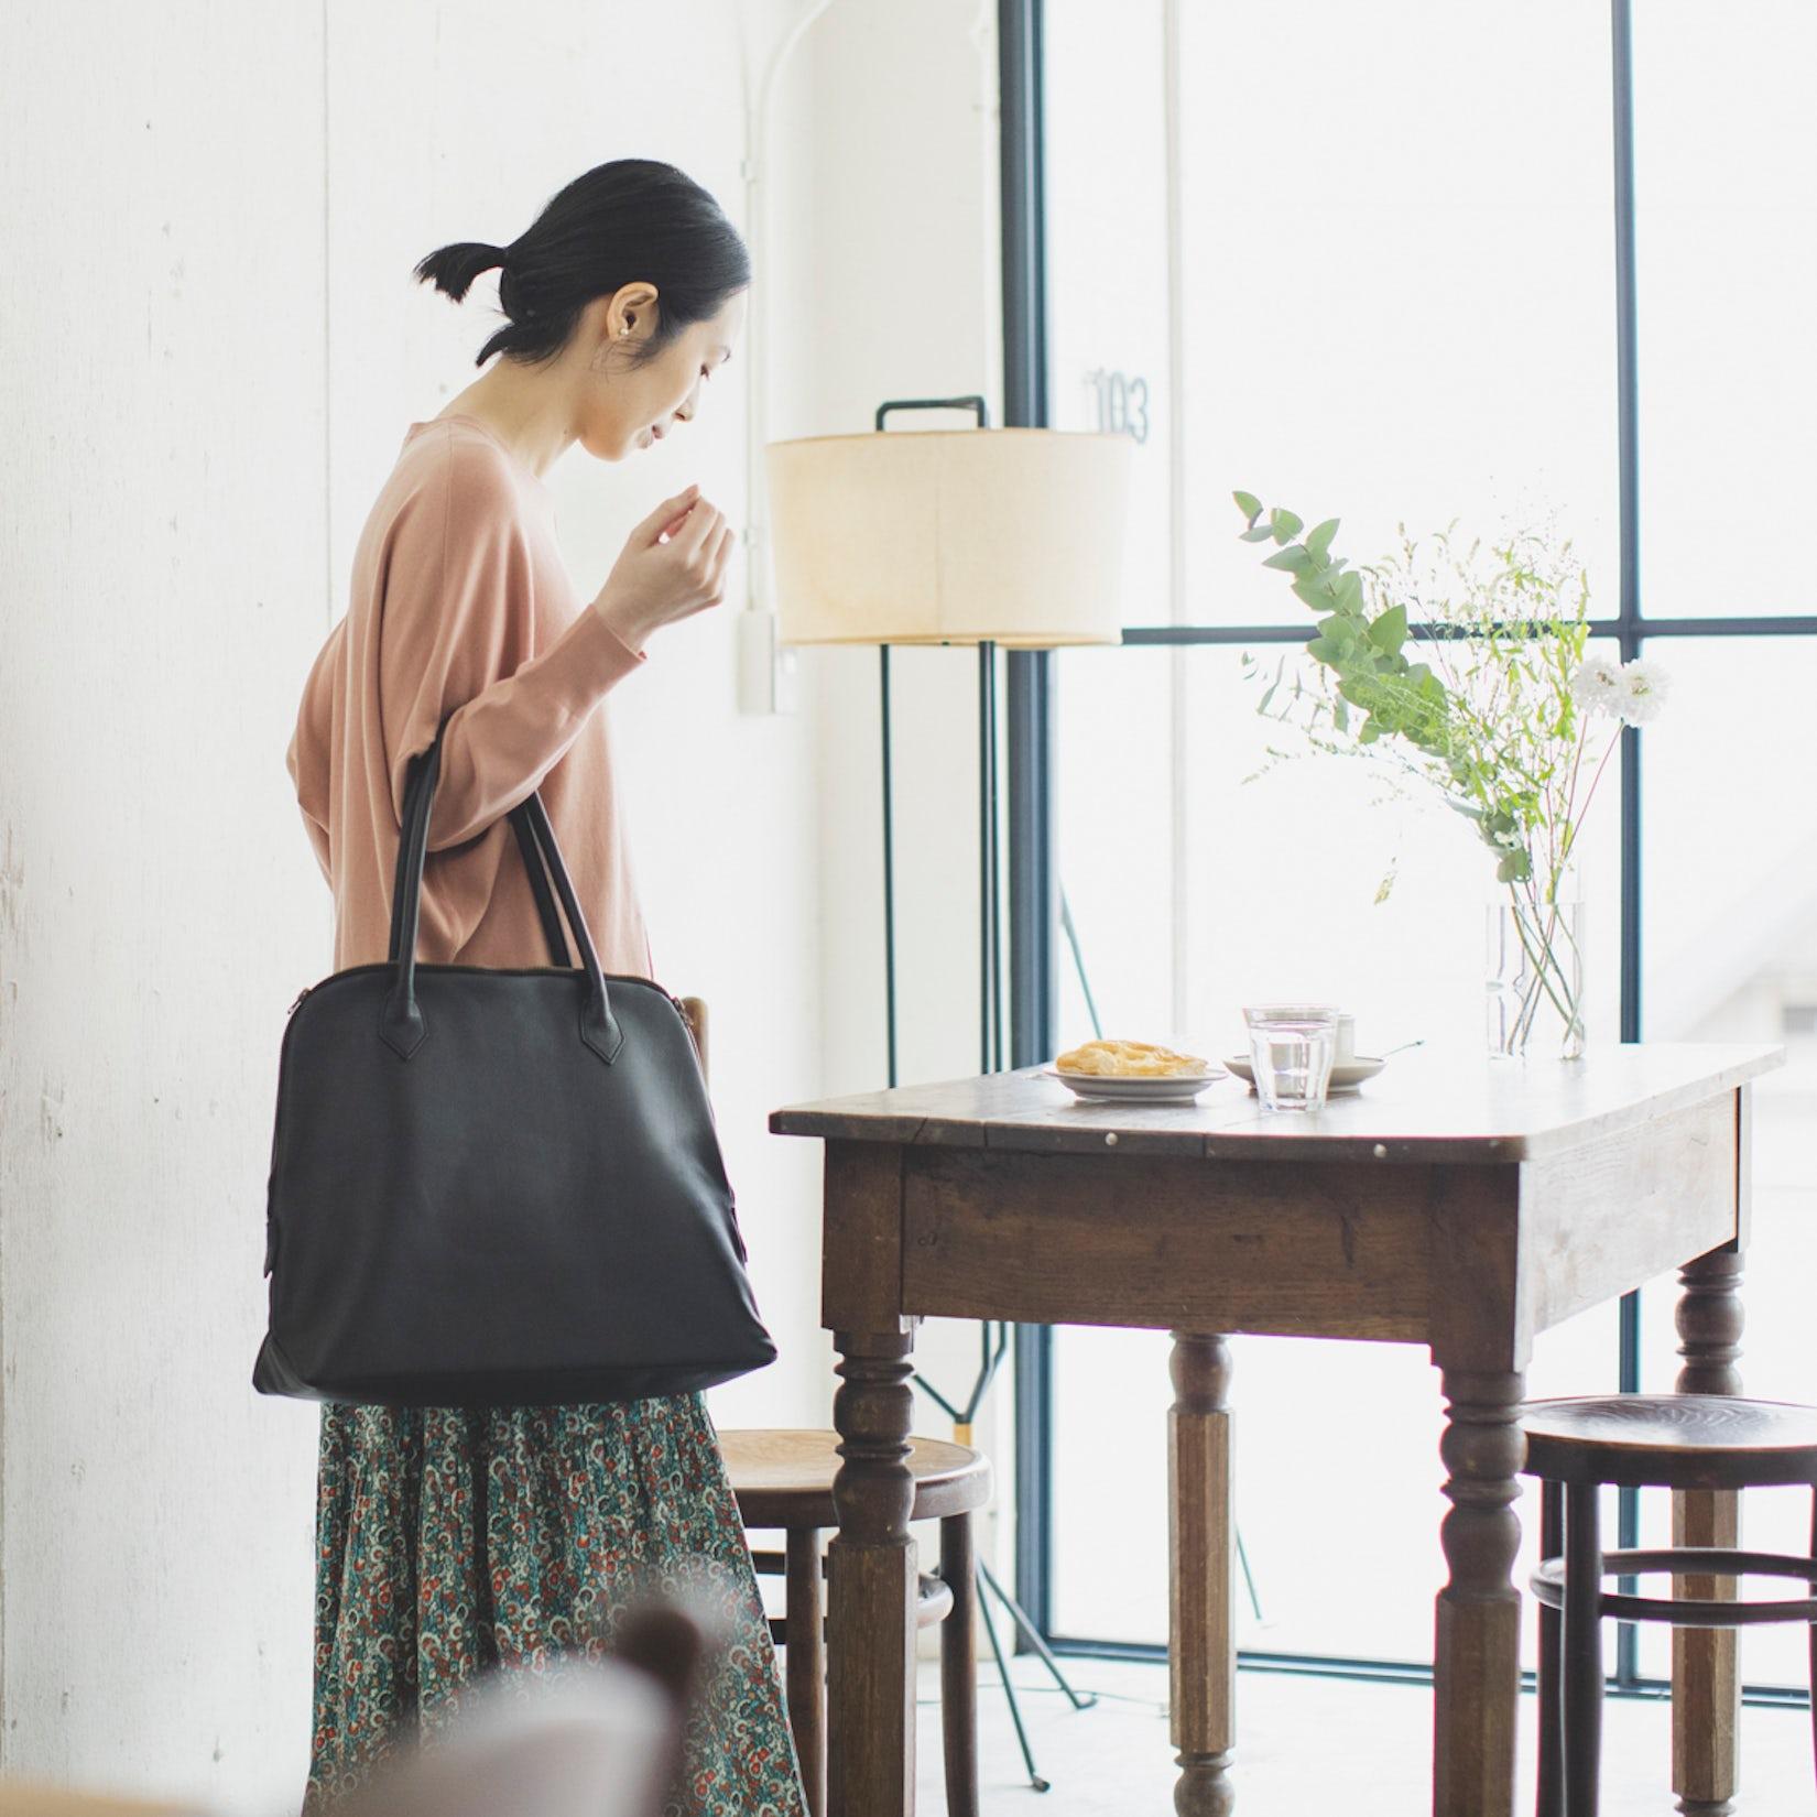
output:
[[914, 1813], [916, 1548], [907, 1332], [836, 1332], [839, 1530], [829, 1548], [827, 1812]]

